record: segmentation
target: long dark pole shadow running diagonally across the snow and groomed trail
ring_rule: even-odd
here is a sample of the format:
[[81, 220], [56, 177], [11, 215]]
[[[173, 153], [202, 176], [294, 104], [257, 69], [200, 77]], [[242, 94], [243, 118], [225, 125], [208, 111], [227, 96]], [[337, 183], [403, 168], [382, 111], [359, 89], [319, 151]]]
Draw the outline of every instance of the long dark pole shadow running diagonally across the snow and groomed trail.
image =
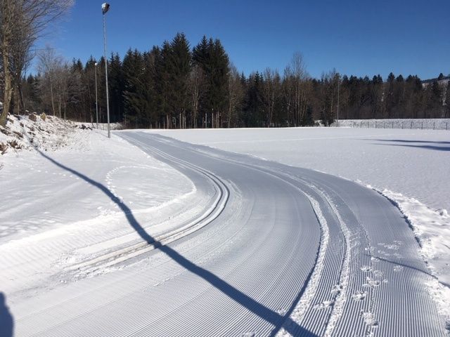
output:
[[[78, 171], [75, 171], [74, 169], [70, 169], [70, 167], [65, 166], [63, 164], [60, 164], [55, 159], [52, 159], [51, 157], [47, 156], [40, 150], [36, 149], [39, 154], [41, 154], [42, 157], [48, 159], [56, 166], [60, 167], [61, 169], [64, 169], [66, 171], [69, 171], [70, 173], [74, 174], [75, 176], [82, 178], [86, 183], [89, 183], [95, 187], [97, 187], [99, 190], [101, 190], [104, 194], [106, 194], [107, 197], [109, 197], [117, 206], [120, 207], [120, 209], [123, 211], [124, 215], [127, 217], [129, 225], [133, 227], [133, 229], [139, 234], [139, 236], [145, 240], [148, 244], [153, 244], [156, 248], [160, 249], [163, 253], [165, 253], [169, 258], [172, 258], [176, 263], [181, 265], [181, 267], [184, 267], [189, 272], [192, 272], [195, 275], [198, 275], [198, 277], [201, 277], [206, 282], [214, 286], [214, 288], [218, 289], [222, 293], [224, 293], [226, 296], [229, 296], [229, 298], [236, 301], [236, 303], [239, 303], [243, 307], [247, 308], [251, 312], [253, 312], [255, 315], [258, 315], [262, 319], [264, 319], [266, 322], [269, 322], [274, 325], [274, 329], [272, 330], [270, 336], [275, 336], [276, 333], [283, 328], [288, 331], [292, 336], [317, 336], [316, 334], [312, 333], [311, 331], [308, 331], [307, 329], [304, 329], [302, 326], [297, 324], [297, 322], [294, 322], [293, 319], [290, 318], [290, 314], [295, 309], [295, 306], [297, 305], [298, 301], [300, 300], [300, 297], [304, 293], [307, 282], [305, 282], [304, 286], [298, 293], [297, 297], [295, 298], [293, 304], [289, 308], [288, 312], [286, 312], [285, 315], [280, 315], [278, 312], [275, 312], [274, 310], [271, 310], [269, 308], [266, 308], [261, 303], [257, 302], [257, 300], [254, 300], [250, 296], [246, 295], [242, 291], [234, 288], [231, 286], [231, 284], [225, 282], [223, 279], [217, 277], [217, 275], [214, 275], [212, 272], [203, 269], [202, 267], [199, 267], [198, 265], [195, 265], [195, 263], [191, 262], [184, 256], [182, 256], [180, 253], [176, 252], [174, 249], [170, 248], [169, 246], [162, 245], [160, 242], [156, 241], [150, 234], [146, 232], [146, 230], [143, 229], [143, 227], [139, 224], [139, 222], [134, 218], [133, 212], [129, 207], [124, 204], [118, 197], [116, 197], [113, 192], [111, 192], [108, 187], [105, 187], [105, 185], [102, 185], [101, 183], [98, 183], [96, 180], [93, 180], [87, 176], [84, 176], [84, 174], [79, 173]], [[312, 270], [310, 274], [312, 273]]]

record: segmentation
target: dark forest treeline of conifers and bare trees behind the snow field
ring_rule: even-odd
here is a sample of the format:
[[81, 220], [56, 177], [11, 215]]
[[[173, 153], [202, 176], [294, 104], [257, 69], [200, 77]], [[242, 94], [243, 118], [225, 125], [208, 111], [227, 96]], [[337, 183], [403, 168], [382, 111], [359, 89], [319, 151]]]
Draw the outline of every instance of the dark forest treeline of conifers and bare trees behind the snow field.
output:
[[[51, 48], [39, 54], [39, 72], [23, 79], [23, 110], [79, 121], [105, 121], [105, 60], [71, 64]], [[184, 34], [150, 51], [129, 50], [108, 60], [110, 119], [132, 128], [308, 126], [320, 119], [450, 117], [450, 81], [423, 84], [417, 76], [314, 79], [300, 53], [280, 74], [238, 72], [218, 39], [191, 48]], [[339, 116], [338, 116], [339, 113]]]

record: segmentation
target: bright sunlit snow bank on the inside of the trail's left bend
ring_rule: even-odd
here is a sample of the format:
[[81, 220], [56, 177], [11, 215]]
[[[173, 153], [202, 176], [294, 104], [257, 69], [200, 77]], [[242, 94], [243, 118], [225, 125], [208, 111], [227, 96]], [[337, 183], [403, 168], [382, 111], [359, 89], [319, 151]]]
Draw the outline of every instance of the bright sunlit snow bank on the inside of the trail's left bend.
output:
[[24, 136], [8, 136], [23, 149], [0, 156], [0, 291], [9, 300], [65, 282], [55, 275], [78, 260], [139, 242], [122, 203], [158, 237], [210, 200], [179, 171], [120, 137], [56, 118], [12, 119], [8, 129]]

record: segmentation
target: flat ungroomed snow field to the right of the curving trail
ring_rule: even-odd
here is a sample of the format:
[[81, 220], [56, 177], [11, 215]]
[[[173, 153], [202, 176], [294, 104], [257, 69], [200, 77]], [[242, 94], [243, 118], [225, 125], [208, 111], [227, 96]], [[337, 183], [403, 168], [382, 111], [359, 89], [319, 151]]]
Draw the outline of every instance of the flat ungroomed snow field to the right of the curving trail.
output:
[[[440, 120], [439, 126], [446, 121]], [[433, 121], [424, 123], [432, 128]], [[383, 193], [413, 227], [423, 258], [439, 279], [430, 291], [450, 318], [450, 131], [332, 127], [146, 132], [330, 173]]]

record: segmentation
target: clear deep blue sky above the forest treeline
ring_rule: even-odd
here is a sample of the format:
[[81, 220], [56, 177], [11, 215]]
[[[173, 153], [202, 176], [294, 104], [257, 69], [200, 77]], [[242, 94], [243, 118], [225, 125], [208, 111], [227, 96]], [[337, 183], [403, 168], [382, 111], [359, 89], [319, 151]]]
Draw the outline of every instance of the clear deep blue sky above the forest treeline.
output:
[[[41, 44], [71, 60], [103, 54], [102, 1], [78, 0]], [[313, 77], [450, 74], [450, 0], [111, 0], [108, 55], [123, 57], [184, 32], [219, 38], [238, 70], [283, 72], [295, 51]]]

